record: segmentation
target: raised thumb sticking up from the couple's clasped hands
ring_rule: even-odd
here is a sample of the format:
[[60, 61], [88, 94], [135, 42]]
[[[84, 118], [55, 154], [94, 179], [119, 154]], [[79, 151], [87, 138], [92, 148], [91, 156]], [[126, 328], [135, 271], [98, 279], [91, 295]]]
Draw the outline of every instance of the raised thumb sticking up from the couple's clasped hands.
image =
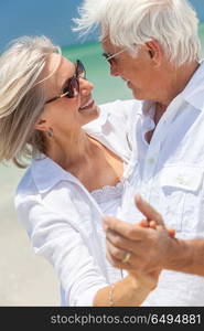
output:
[[138, 210], [144, 215], [144, 217], [155, 221], [157, 225], [164, 225], [162, 216], [148, 202], [146, 202], [140, 194], [136, 194], [135, 201]]

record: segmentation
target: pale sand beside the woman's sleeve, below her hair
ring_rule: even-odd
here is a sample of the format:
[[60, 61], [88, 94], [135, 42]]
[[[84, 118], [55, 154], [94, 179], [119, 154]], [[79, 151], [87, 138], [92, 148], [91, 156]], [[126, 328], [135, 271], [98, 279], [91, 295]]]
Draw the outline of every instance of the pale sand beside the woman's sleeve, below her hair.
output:
[[30, 247], [13, 194], [23, 170], [0, 166], [0, 306], [60, 306], [53, 267]]

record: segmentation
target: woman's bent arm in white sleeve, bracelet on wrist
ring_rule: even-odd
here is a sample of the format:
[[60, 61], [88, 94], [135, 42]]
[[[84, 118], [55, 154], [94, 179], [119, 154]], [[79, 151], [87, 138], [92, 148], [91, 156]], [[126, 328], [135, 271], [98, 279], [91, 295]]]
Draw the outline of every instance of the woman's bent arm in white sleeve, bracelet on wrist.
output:
[[[109, 286], [80, 232], [41, 202], [24, 197], [18, 211], [35, 253], [54, 266], [67, 306], [139, 306], [152, 289], [152, 284], [135, 275]], [[73, 211], [69, 216], [77, 214]]]

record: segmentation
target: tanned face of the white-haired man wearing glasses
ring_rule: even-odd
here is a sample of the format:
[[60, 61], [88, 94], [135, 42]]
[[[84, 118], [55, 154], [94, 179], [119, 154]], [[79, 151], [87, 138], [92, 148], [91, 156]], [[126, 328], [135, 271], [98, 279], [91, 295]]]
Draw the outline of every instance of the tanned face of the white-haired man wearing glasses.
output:
[[[108, 39], [103, 42], [108, 55], [119, 53], [119, 49]], [[160, 74], [148, 45], [142, 45], [136, 57], [124, 51], [110, 60], [110, 74], [127, 82], [136, 99], [157, 100], [160, 89]]]

